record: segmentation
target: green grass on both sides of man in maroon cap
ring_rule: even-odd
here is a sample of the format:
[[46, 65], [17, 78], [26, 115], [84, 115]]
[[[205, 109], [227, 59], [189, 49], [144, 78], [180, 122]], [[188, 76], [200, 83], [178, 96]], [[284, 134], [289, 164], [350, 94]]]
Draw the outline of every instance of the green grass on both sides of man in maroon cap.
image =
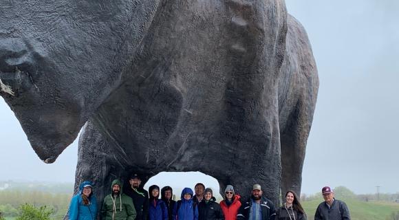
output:
[[[399, 203], [383, 201], [358, 201], [355, 199], [342, 199], [349, 208], [352, 220], [387, 220], [392, 212], [399, 212]], [[308, 220], [314, 220], [314, 212], [323, 200], [304, 201], [302, 203]]]

